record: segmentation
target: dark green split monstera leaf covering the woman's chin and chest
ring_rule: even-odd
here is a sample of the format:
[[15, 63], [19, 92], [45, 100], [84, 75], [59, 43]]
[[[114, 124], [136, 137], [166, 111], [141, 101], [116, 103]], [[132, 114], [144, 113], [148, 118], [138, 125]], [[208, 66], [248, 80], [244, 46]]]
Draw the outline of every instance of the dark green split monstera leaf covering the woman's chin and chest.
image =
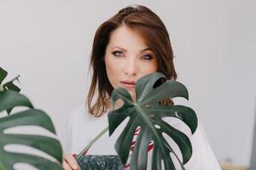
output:
[[[170, 156], [171, 153], [176, 156], [180, 166], [184, 169], [183, 164], [188, 162], [192, 156], [189, 138], [163, 121], [162, 118], [168, 116], [180, 119], [190, 128], [191, 133], [195, 133], [197, 127], [195, 111], [184, 105], [160, 105], [160, 101], [176, 97], [189, 99], [187, 89], [182, 83], [166, 80], [163, 74], [154, 72], [137, 81], [136, 94], [137, 101], [134, 103], [125, 88], [114, 89], [112, 93], [113, 108], [117, 99], [122, 99], [124, 105], [108, 113], [109, 135], [113, 134], [126, 117], [130, 117], [115, 143], [115, 150], [123, 165], [129, 156], [133, 134], [137, 127], [140, 127], [140, 133], [131, 154], [130, 166], [132, 170], [147, 169], [148, 144], [151, 141], [154, 142], [152, 169], [162, 169], [161, 161], [164, 162], [165, 169], [175, 169]], [[174, 153], [163, 133], [175, 141], [181, 150], [183, 161]]]

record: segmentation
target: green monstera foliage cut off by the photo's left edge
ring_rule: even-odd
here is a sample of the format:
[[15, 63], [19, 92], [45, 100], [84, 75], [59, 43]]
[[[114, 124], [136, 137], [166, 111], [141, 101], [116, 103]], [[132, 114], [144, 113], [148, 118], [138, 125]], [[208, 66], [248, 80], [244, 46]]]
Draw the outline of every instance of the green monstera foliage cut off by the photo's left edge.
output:
[[[0, 70], [0, 82], [7, 76], [7, 72], [2, 68]], [[13, 81], [11, 81], [13, 83]], [[9, 82], [9, 84], [11, 84]], [[6, 85], [6, 83], [5, 83]], [[11, 111], [16, 106], [24, 107], [24, 111], [18, 111], [15, 114], [2, 116], [0, 118], [0, 170], [13, 170], [15, 163], [28, 163], [38, 169], [62, 169], [62, 149], [61, 143], [52, 137], [32, 134], [5, 133], [4, 131], [10, 127], [18, 126], [37, 126], [43, 127], [51, 133], [55, 133], [55, 127], [44, 112], [34, 109], [32, 103], [26, 96], [19, 94], [18, 88], [12, 89], [14, 86], [2, 86], [0, 91], [0, 114], [4, 111]], [[4, 87], [4, 88], [3, 88]], [[32, 154], [5, 150], [4, 146], [8, 144], [22, 144], [41, 150], [47, 155], [55, 158], [50, 161], [43, 156], [35, 156]]]

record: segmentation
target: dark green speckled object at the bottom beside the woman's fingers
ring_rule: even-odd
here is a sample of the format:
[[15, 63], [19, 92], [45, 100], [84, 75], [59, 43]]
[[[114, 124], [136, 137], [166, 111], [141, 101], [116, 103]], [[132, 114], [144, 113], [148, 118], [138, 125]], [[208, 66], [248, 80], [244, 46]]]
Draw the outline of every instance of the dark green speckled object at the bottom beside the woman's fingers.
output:
[[119, 156], [82, 156], [79, 160], [82, 170], [124, 170]]

